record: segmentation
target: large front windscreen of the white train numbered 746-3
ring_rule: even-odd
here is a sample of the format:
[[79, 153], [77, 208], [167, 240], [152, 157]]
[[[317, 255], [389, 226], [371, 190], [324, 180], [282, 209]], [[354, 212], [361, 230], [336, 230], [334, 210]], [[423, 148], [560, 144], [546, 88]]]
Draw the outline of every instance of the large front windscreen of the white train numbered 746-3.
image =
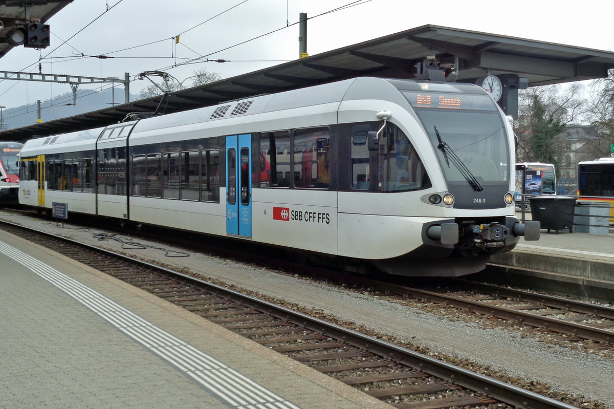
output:
[[448, 182], [466, 182], [467, 178], [459, 166], [449, 160], [449, 154], [441, 150], [441, 142], [453, 150], [480, 183], [508, 181], [510, 150], [507, 133], [491, 97], [414, 91], [403, 91], [403, 95], [429, 134]]

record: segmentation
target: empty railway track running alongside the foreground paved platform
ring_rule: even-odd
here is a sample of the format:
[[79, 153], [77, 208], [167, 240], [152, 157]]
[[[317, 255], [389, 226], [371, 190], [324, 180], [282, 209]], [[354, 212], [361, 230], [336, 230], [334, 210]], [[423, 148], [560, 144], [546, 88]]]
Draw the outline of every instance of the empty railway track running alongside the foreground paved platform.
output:
[[0, 227], [182, 306], [398, 409], [572, 408], [176, 271], [18, 225], [2, 222]]

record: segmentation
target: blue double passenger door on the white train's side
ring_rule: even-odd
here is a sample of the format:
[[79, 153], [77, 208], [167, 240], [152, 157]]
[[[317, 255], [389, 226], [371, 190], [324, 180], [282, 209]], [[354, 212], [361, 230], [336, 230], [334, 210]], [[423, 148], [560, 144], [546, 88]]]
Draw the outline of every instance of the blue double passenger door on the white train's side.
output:
[[226, 137], [226, 232], [252, 236], [252, 137]]

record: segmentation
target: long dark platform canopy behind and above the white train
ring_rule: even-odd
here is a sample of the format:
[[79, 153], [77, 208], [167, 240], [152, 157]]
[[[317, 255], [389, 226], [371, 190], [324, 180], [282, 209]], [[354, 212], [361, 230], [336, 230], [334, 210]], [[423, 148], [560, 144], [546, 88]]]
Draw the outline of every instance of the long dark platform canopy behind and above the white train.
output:
[[[425, 25], [300, 60], [249, 72], [173, 93], [165, 113], [248, 98], [359, 76], [414, 79], [416, 64], [434, 55], [442, 65], [455, 64], [459, 82], [476, 82], [487, 73], [516, 74], [529, 86], [607, 77], [614, 53], [571, 45]], [[131, 112], [153, 112], [161, 96], [117, 105], [64, 119], [0, 133], [2, 140], [101, 127]]]

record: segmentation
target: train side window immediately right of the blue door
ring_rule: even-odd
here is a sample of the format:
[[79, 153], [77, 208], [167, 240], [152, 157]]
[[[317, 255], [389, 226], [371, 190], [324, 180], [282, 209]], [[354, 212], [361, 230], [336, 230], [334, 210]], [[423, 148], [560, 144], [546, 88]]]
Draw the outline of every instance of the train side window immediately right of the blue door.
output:
[[260, 187], [290, 187], [290, 131], [260, 134]]

